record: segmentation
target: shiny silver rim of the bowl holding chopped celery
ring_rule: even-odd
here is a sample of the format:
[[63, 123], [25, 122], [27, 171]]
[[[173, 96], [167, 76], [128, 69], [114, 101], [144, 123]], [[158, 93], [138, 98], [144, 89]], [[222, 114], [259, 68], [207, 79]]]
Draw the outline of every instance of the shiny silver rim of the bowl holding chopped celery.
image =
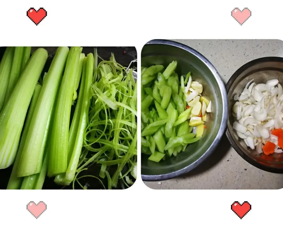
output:
[[146, 46], [146, 45], [174, 46], [174, 47], [183, 49], [185, 51], [188, 51], [191, 54], [193, 54], [194, 56], [198, 57], [209, 68], [209, 70], [214, 75], [214, 78], [216, 79], [216, 81], [219, 85], [222, 104], [223, 104], [223, 109], [222, 109], [223, 115], [222, 115], [222, 119], [221, 119], [221, 122], [220, 122], [219, 131], [217, 132], [216, 137], [215, 137], [214, 141], [212, 142], [211, 146], [207, 149], [207, 151], [205, 153], [203, 153], [203, 155], [199, 159], [197, 159], [195, 162], [191, 163], [190, 165], [184, 167], [183, 169], [180, 169], [180, 170], [177, 170], [177, 171], [174, 171], [174, 172], [171, 172], [171, 173], [161, 174], [161, 175], [144, 175], [144, 174], [142, 174], [142, 180], [143, 181], [169, 180], [169, 179], [175, 178], [177, 176], [180, 176], [184, 173], [188, 173], [189, 171], [196, 168], [205, 159], [207, 159], [211, 155], [211, 153], [214, 152], [215, 148], [218, 146], [221, 138], [223, 137], [223, 135], [225, 133], [225, 129], [226, 129], [226, 126], [227, 126], [227, 120], [228, 120], [227, 92], [226, 92], [226, 89], [225, 89], [225, 84], [224, 84], [222, 78], [220, 77], [218, 71], [216, 70], [216, 68], [212, 65], [212, 63], [205, 56], [203, 56], [201, 53], [194, 50], [193, 48], [186, 46], [184, 44], [181, 44], [179, 42], [176, 42], [176, 41], [164, 40], [164, 39], [151, 40], [151, 41], [147, 42], [144, 46]]

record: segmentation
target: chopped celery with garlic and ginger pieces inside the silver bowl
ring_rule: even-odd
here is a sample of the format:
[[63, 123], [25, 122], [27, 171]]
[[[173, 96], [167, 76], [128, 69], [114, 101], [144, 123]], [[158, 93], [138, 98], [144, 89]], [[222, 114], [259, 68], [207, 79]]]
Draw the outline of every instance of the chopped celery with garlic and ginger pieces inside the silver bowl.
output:
[[[142, 154], [160, 162], [190, 151], [203, 136], [212, 101], [191, 72], [178, 75], [177, 61], [167, 67], [142, 67]], [[188, 148], [187, 148], [188, 147]]]

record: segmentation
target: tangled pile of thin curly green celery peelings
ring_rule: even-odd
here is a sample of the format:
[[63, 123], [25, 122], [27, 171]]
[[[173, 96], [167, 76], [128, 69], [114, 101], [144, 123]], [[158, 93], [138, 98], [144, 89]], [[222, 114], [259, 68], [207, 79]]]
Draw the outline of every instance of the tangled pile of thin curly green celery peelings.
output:
[[77, 182], [86, 189], [78, 181], [83, 177], [93, 177], [102, 183], [92, 175], [78, 176], [92, 164], [101, 166], [99, 177], [106, 177], [108, 189], [116, 188], [118, 181], [129, 187], [130, 184], [124, 178], [131, 176], [137, 160], [136, 82], [132, 70], [126, 71], [125, 67], [115, 61], [113, 54], [109, 61], [102, 59], [97, 68], [96, 59], [100, 57], [96, 49], [94, 58], [92, 103], [84, 134], [84, 151], [80, 155], [73, 188]]

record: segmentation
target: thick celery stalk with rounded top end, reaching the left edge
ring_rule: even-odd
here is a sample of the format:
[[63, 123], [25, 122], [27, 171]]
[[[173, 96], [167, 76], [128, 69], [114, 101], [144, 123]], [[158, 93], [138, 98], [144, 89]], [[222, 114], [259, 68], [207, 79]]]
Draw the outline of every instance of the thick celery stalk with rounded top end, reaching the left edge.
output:
[[25, 116], [47, 56], [47, 51], [42, 48], [32, 54], [7, 104], [0, 112], [0, 169], [5, 169], [14, 162]]

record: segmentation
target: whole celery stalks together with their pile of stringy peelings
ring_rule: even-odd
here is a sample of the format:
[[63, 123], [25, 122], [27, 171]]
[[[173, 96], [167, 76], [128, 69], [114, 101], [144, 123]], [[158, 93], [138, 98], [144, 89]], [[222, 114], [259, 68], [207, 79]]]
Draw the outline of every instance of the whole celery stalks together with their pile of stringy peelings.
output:
[[0, 62], [0, 169], [14, 163], [7, 189], [42, 189], [46, 176], [58, 185], [82, 186], [80, 178], [95, 176], [78, 174], [94, 163], [109, 189], [118, 180], [130, 186], [136, 179], [132, 71], [114, 55], [97, 65], [96, 49], [94, 55], [81, 52], [58, 47], [42, 79], [45, 49], [30, 58], [31, 47], [6, 48]]

